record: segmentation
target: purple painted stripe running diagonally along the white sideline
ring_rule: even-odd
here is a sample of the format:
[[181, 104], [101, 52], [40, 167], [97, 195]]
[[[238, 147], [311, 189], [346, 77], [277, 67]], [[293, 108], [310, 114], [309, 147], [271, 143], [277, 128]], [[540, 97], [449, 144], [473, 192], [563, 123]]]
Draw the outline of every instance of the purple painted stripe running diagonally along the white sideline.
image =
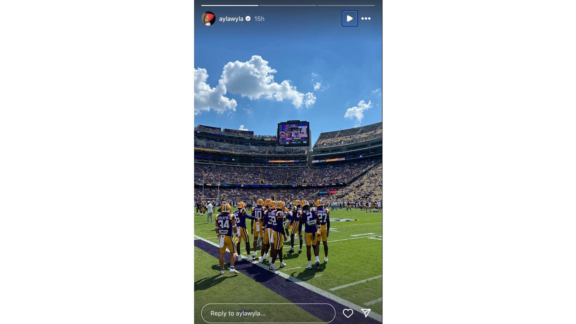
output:
[[[215, 258], [218, 258], [218, 255], [220, 254], [220, 250], [218, 247], [215, 247], [210, 243], [204, 242], [203, 240], [194, 240], [194, 245]], [[226, 251], [226, 255], [224, 258], [225, 260], [229, 260], [230, 254], [228, 253], [228, 251]], [[234, 263], [234, 269], [238, 270], [239, 272], [242, 272], [242, 274], [247, 275], [256, 282], [259, 282], [260, 284], [264, 285], [264, 287], [286, 298], [287, 300], [290, 300], [290, 302], [292, 303], [331, 304], [332, 306], [334, 306], [336, 310], [336, 318], [334, 318], [334, 321], [330, 322], [331, 324], [381, 323], [376, 321], [376, 319], [370, 317], [365, 318], [364, 314], [361, 311], [356, 310], [354, 311], [354, 314], [350, 318], [346, 318], [342, 314], [342, 310], [347, 309], [348, 308], [347, 306], [335, 302], [334, 300], [328, 299], [327, 297], [324, 297], [319, 293], [309, 291], [308, 289], [301, 287], [298, 284], [295, 284], [295, 282], [292, 282], [290, 280], [287, 280], [286, 278], [278, 276], [269, 270], [260, 268], [257, 265], [253, 265], [251, 262], [245, 260], [241, 262], [236, 262]], [[328, 311], [325, 309], [325, 307], [318, 308], [314, 307], [314, 305], [298, 305], [298, 306], [325, 322], [330, 321], [334, 317], [334, 311], [332, 310], [332, 308], [329, 308]]]

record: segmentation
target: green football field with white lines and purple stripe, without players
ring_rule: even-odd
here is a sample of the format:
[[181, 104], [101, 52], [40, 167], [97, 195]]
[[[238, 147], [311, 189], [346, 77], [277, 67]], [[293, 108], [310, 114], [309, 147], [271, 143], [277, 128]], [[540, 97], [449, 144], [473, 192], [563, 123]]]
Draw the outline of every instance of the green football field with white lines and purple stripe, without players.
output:
[[[204, 323], [202, 315], [208, 322], [228, 322], [222, 318], [210, 319], [210, 312], [206, 310], [200, 315], [200, 310], [209, 303], [325, 303], [334, 307], [310, 308], [304, 305], [298, 308], [298, 315], [294, 315], [295, 306], [275, 305], [274, 309], [281, 311], [268, 314], [266, 321], [247, 317], [236, 319], [237, 322], [329, 322], [334, 313], [337, 320], [333, 323], [382, 321], [382, 213], [355, 209], [331, 211], [328, 262], [324, 262], [324, 247], [320, 243], [320, 270], [314, 266], [313, 252], [313, 269], [305, 268], [308, 265], [306, 244], [298, 254], [300, 244], [295, 238], [294, 253], [287, 253], [290, 243], [284, 243], [285, 268], [274, 272], [268, 270], [270, 257], [264, 264], [258, 264], [257, 259], [251, 262], [242, 260], [234, 265], [240, 274], [228, 272], [228, 252], [225, 256], [226, 272], [219, 273], [214, 224], [206, 224], [206, 216], [199, 213], [194, 217], [194, 303], [195, 321], [198, 323]], [[252, 250], [252, 244], [250, 247]], [[240, 244], [240, 253], [246, 257], [244, 243]], [[257, 256], [260, 257], [260, 251]], [[276, 266], [279, 266], [278, 261]], [[322, 307], [329, 309], [321, 310]], [[349, 319], [343, 317], [343, 308], [353, 309], [353, 316]], [[360, 308], [372, 309], [367, 319]]]

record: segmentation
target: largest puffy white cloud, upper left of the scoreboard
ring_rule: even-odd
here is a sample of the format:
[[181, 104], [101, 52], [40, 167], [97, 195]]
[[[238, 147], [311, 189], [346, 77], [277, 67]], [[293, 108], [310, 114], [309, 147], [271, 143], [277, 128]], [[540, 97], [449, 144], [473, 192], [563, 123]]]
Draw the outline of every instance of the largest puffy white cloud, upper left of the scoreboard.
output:
[[[316, 97], [313, 93], [298, 92], [290, 80], [281, 83], [274, 82], [276, 70], [268, 66], [268, 61], [264, 61], [261, 56], [253, 55], [248, 62], [228, 62], [222, 71], [220, 82], [226, 85], [230, 93], [237, 93], [242, 97], [251, 100], [268, 99], [283, 101], [291, 100], [295, 108], [301, 108], [302, 104], [306, 108], [312, 106]], [[310, 98], [312, 96], [313, 98]]]

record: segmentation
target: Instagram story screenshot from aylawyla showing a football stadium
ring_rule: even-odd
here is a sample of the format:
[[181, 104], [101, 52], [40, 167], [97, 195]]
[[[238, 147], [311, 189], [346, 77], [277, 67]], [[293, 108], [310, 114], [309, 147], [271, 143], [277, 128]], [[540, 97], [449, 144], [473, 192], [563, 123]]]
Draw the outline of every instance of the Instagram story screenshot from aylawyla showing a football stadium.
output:
[[194, 321], [381, 323], [382, 3], [194, 7]]

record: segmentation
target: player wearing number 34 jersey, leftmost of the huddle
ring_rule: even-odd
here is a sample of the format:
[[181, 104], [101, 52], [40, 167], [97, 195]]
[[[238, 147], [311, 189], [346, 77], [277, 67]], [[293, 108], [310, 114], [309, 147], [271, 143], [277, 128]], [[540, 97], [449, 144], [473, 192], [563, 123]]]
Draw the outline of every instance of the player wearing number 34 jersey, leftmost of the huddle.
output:
[[216, 228], [215, 231], [219, 235], [220, 242], [220, 255], [218, 261], [220, 261], [220, 274], [224, 274], [224, 254], [226, 253], [226, 248], [230, 252], [230, 273], [238, 273], [234, 269], [234, 261], [236, 261], [236, 250], [234, 249], [234, 241], [232, 240], [232, 235], [238, 237], [236, 220], [234, 216], [230, 214], [232, 211], [232, 206], [229, 204], [222, 205], [222, 213], [216, 216]]

